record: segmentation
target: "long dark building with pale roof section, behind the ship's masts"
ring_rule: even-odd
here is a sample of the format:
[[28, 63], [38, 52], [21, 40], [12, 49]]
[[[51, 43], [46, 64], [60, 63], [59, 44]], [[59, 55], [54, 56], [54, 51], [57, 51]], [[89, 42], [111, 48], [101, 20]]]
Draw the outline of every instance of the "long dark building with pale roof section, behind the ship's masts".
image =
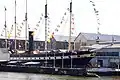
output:
[[[75, 36], [71, 37], [71, 47], [74, 48], [74, 39]], [[62, 35], [54, 35], [50, 42], [48, 42], [48, 50], [50, 49], [67, 49], [68, 48], [68, 40], [69, 36], [62, 36]], [[0, 39], [0, 48], [5, 48], [5, 39]], [[28, 43], [29, 44], [29, 43]], [[14, 39], [7, 40], [8, 48], [14, 49]], [[34, 49], [44, 50], [45, 42], [34, 40]], [[25, 49], [25, 40], [17, 39], [16, 40], [16, 48], [17, 50], [24, 50]]]

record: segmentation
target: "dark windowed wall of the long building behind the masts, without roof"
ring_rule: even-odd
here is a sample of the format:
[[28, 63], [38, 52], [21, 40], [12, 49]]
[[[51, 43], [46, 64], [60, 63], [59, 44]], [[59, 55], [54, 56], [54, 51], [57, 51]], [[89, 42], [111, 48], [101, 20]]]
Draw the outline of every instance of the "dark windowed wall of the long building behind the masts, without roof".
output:
[[[72, 43], [73, 44], [73, 43]], [[6, 42], [4, 39], [0, 40], [0, 48], [5, 48]], [[29, 44], [28, 44], [29, 45]], [[44, 41], [34, 41], [34, 49], [42, 49], [44, 50]], [[14, 40], [9, 40], [7, 43], [8, 48], [14, 49], [15, 44]], [[16, 40], [16, 48], [20, 50], [25, 49], [25, 41], [24, 40]], [[50, 49], [67, 49], [68, 48], [68, 42], [52, 42], [48, 43], [48, 48]]]

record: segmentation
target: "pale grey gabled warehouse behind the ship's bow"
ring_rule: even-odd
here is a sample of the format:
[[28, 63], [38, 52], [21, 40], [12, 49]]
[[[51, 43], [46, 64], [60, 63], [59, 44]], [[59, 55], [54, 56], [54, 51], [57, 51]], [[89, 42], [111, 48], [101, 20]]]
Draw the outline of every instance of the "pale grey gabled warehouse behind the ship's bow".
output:
[[79, 33], [75, 38], [75, 49], [80, 50], [82, 46], [91, 46], [98, 42], [120, 41], [118, 35], [96, 34], [96, 33]]

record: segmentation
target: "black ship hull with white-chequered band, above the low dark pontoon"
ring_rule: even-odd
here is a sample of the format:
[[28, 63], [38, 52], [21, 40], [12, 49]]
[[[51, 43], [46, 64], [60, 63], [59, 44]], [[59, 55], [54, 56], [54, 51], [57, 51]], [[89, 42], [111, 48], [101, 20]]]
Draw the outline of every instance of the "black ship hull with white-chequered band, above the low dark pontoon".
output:
[[[33, 61], [40, 62], [39, 65], [59, 68], [84, 68], [93, 58], [93, 52], [90, 51], [60, 51], [52, 50], [41, 52], [39, 54], [11, 54], [11, 61]], [[26, 58], [26, 59], [25, 59]]]

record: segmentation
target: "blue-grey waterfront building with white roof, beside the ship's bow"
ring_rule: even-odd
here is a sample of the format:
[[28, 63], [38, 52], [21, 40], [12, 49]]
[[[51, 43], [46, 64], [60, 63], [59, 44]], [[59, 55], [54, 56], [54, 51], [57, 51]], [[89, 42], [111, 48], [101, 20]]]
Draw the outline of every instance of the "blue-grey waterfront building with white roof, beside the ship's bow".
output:
[[96, 52], [96, 57], [91, 60], [94, 67], [118, 68], [120, 66], [120, 42], [104, 42], [87, 48]]

